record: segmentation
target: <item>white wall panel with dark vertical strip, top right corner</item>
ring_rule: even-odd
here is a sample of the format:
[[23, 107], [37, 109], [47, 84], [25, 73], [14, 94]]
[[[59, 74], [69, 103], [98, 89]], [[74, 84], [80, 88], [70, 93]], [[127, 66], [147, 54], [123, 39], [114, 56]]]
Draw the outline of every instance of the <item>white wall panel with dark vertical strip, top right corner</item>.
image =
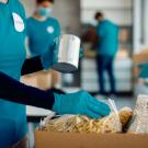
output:
[[148, 0], [134, 0], [134, 53], [148, 48]]

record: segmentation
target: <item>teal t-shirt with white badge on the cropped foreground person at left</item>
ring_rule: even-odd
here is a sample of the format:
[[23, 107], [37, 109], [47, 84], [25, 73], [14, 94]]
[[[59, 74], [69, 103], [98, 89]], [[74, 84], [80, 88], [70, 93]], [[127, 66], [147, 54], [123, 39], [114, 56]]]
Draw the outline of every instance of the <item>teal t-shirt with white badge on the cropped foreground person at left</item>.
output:
[[[0, 2], [0, 71], [20, 80], [25, 60], [25, 13], [19, 0]], [[8, 92], [9, 93], [9, 92]], [[22, 139], [26, 134], [25, 105], [0, 100], [0, 147]]]

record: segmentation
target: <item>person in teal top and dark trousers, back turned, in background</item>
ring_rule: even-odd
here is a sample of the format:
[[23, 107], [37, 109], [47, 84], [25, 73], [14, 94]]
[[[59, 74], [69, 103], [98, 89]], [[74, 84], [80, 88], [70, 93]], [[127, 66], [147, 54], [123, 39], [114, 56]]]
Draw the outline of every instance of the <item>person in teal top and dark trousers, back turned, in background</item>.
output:
[[116, 93], [113, 62], [118, 49], [118, 26], [105, 20], [102, 12], [96, 12], [95, 20], [99, 22], [96, 34], [99, 37], [96, 52], [96, 66], [99, 73], [100, 91], [106, 94], [104, 71], [106, 70], [111, 83], [111, 93]]

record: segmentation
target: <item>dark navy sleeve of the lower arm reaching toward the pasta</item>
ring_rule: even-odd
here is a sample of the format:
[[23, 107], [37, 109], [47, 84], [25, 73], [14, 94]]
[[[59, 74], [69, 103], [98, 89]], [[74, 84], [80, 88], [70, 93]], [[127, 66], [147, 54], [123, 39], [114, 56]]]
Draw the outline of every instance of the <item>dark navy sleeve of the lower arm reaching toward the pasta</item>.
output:
[[53, 91], [25, 86], [0, 72], [0, 98], [14, 103], [52, 110], [55, 96]]

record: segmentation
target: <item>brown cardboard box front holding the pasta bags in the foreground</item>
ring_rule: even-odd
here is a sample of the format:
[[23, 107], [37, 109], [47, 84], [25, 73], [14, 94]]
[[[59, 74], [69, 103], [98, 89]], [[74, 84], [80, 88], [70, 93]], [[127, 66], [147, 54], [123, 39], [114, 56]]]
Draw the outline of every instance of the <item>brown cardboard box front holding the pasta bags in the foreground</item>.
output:
[[35, 148], [147, 148], [148, 135], [35, 132]]

